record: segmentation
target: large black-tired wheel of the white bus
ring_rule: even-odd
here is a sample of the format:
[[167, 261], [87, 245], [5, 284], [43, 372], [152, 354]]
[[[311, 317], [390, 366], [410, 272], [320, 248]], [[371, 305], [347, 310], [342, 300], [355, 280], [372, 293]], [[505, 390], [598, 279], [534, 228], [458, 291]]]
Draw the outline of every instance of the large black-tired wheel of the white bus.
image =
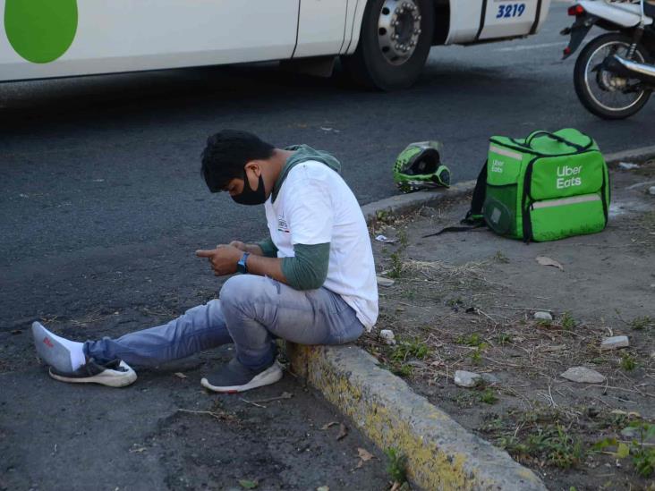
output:
[[370, 0], [357, 49], [343, 57], [345, 71], [370, 89], [410, 87], [430, 53], [434, 15], [432, 0]]

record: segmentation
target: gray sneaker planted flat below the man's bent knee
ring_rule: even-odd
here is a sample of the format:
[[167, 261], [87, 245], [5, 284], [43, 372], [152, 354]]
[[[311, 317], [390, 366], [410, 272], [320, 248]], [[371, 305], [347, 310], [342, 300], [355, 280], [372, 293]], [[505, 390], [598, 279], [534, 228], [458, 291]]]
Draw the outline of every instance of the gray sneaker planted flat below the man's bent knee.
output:
[[200, 380], [200, 384], [210, 391], [234, 394], [262, 385], [275, 384], [280, 378], [282, 378], [282, 368], [276, 361], [266, 368], [253, 370], [234, 358], [213, 374]]

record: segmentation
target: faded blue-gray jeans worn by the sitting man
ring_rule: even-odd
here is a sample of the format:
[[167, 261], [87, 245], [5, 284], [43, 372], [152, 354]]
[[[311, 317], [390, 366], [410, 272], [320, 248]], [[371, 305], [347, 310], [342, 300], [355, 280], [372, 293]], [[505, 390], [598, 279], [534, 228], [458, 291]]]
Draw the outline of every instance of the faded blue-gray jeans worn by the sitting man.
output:
[[336, 293], [325, 288], [301, 292], [268, 277], [237, 275], [225, 282], [219, 300], [189, 309], [163, 326], [87, 341], [84, 351], [101, 362], [120, 358], [155, 366], [234, 343], [237, 359], [259, 369], [275, 360], [276, 337], [341, 344], [362, 332], [354, 310]]

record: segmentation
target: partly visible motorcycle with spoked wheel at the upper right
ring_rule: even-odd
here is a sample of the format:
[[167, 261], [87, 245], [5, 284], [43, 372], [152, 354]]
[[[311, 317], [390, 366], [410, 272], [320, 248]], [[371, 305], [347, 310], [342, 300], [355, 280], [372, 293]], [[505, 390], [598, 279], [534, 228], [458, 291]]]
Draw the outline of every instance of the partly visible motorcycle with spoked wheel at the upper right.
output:
[[655, 89], [655, 5], [645, 0], [579, 0], [561, 34], [571, 36], [563, 59], [573, 55], [593, 26], [610, 32], [592, 39], [575, 61], [580, 102], [603, 119], [636, 114]]

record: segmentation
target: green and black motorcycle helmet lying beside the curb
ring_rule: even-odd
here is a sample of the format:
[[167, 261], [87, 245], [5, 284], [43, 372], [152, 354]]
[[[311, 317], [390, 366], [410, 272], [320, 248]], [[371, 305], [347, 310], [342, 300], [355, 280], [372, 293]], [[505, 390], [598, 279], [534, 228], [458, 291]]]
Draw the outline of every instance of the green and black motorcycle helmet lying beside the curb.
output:
[[450, 186], [450, 170], [441, 164], [441, 143], [418, 141], [405, 148], [394, 165], [394, 182], [403, 192]]

